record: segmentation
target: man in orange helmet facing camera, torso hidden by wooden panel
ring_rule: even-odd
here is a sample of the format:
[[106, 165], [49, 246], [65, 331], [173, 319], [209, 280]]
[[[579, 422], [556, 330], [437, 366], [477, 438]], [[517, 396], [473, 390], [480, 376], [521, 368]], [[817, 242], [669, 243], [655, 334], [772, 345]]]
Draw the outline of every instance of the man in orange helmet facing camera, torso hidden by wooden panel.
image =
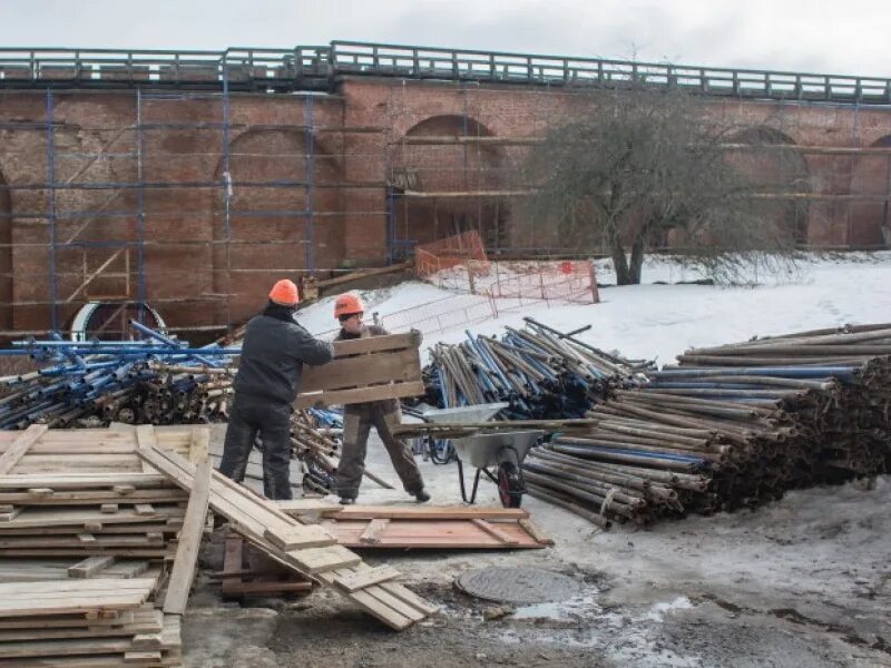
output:
[[[350, 338], [365, 338], [381, 336], [388, 332], [376, 325], [365, 325], [362, 322], [365, 306], [356, 295], [346, 293], [334, 301], [334, 317], [341, 323], [337, 341]], [[421, 344], [421, 333], [417, 335], [415, 345]], [[430, 494], [424, 490], [424, 481], [411, 449], [393, 435], [392, 429], [402, 422], [399, 401], [384, 399], [359, 404], [347, 404], [343, 411], [343, 452], [337, 465], [336, 487], [341, 503], [355, 503], [359, 495], [359, 485], [365, 470], [365, 453], [371, 428], [378, 430], [378, 435], [386, 448], [393, 468], [402, 481], [402, 487], [413, 494], [419, 503], [430, 501]]]

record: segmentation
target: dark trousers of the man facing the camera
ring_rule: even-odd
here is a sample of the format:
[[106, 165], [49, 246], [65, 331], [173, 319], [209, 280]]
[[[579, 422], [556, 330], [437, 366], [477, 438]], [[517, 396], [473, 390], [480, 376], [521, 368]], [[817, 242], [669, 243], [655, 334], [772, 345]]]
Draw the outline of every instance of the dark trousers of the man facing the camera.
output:
[[410, 494], [417, 494], [424, 487], [421, 472], [414, 462], [411, 449], [393, 435], [392, 426], [401, 424], [399, 407], [393, 409], [390, 402], [347, 405], [343, 412], [343, 451], [337, 464], [336, 487], [342, 498], [355, 499], [359, 485], [365, 471], [371, 428], [378, 430], [390, 461], [393, 462], [402, 487]]

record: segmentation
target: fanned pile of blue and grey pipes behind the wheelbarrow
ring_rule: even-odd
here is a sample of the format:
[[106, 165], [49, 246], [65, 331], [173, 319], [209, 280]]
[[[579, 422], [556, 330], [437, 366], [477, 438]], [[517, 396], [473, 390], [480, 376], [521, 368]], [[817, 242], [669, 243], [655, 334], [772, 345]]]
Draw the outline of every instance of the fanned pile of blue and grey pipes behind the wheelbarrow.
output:
[[437, 344], [424, 369], [428, 402], [440, 407], [508, 402], [511, 419], [580, 418], [609, 387], [627, 384], [648, 363], [599, 351], [532, 318], [499, 340], [467, 332]]

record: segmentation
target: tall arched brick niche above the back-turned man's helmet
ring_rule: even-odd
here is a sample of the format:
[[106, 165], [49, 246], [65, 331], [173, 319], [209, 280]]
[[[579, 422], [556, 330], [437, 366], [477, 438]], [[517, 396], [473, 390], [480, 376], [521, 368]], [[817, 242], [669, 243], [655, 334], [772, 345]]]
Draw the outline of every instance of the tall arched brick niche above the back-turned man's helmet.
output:
[[228, 177], [225, 165], [221, 158], [215, 174], [231, 186], [214, 200], [214, 288], [228, 295], [219, 317], [236, 322], [278, 278], [340, 264], [343, 177], [317, 137], [285, 128], [246, 130], [229, 143]]

